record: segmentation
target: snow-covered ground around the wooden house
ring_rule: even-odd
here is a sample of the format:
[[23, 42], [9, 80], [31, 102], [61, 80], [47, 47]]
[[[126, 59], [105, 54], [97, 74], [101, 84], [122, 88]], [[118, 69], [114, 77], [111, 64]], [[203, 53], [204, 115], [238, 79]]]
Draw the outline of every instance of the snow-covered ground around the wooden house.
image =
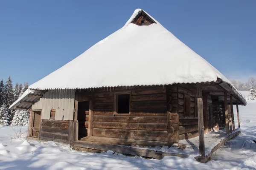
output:
[[[0, 169], [5, 170], [256, 170], [256, 101], [240, 106], [241, 135], [227, 142], [207, 164], [195, 161], [193, 156], [180, 158], [165, 156], [162, 160], [129, 157], [108, 151], [88, 153], [72, 150], [57, 142], [27, 141], [27, 126], [0, 126]], [[236, 113], [236, 108], [234, 107]], [[236, 114], [235, 114], [236, 117]], [[237, 123], [237, 119], [236, 119]], [[236, 125], [237, 127], [237, 125]], [[15, 128], [15, 129], [13, 129]], [[19, 130], [21, 130], [21, 135]], [[17, 135], [15, 132], [18, 132]], [[19, 139], [17, 136], [21, 136]]]

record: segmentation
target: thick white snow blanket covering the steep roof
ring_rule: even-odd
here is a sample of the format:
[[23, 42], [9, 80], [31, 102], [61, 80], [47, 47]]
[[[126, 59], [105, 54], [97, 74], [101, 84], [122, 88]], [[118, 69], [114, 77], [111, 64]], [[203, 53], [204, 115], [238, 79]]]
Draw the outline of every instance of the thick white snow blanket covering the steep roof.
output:
[[80, 56], [29, 86], [76, 89], [173, 83], [215, 82], [231, 85], [216, 68], [177, 39], [157, 20], [149, 26], [128, 22]]

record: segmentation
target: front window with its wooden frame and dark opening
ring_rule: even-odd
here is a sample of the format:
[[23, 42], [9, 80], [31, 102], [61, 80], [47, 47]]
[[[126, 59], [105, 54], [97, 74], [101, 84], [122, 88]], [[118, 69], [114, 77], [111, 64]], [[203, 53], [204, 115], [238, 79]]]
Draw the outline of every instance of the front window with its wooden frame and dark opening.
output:
[[116, 92], [114, 96], [114, 115], [130, 114], [130, 92]]

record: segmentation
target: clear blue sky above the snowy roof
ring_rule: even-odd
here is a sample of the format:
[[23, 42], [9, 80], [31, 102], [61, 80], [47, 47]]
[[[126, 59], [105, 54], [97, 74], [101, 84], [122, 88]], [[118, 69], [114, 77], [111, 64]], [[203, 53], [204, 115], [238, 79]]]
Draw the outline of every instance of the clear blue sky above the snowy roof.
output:
[[136, 8], [227, 78], [256, 75], [256, 0], [0, 0], [0, 78], [38, 81], [121, 28]]

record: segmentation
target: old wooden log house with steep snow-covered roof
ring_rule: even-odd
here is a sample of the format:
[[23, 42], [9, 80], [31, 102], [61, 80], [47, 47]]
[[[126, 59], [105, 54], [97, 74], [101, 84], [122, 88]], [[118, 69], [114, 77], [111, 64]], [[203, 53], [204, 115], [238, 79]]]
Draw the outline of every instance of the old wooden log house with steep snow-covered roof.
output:
[[137, 9], [10, 108], [30, 112], [33, 139], [122, 153], [104, 144], [160, 146], [199, 136], [204, 156], [204, 133], [235, 130], [233, 105], [246, 101], [230, 81]]

